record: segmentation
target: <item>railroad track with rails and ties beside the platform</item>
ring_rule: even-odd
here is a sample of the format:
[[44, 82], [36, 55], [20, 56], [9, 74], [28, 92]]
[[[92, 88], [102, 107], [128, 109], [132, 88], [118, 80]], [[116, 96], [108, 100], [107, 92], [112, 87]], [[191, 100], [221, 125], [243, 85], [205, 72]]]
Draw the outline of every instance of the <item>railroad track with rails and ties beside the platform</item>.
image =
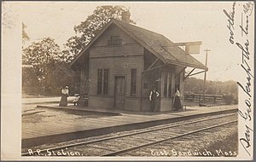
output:
[[66, 156], [68, 153], [78, 153], [79, 156], [116, 156], [236, 122], [237, 113], [217, 115], [211, 118], [194, 119], [194, 121], [182, 124], [163, 124], [125, 135], [77, 142], [55, 148], [44, 148], [39, 151], [21, 153], [21, 156], [52, 156], [58, 152], [62, 153], [61, 156]]

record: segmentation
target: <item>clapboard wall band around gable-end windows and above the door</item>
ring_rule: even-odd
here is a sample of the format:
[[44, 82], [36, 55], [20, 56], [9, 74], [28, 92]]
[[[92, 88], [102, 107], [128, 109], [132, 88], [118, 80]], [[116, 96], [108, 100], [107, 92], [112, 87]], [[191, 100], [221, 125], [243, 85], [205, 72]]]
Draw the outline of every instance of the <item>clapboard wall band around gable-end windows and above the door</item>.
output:
[[125, 76], [125, 95], [131, 95], [131, 69], [134, 68], [137, 69], [137, 96], [139, 96], [140, 74], [143, 72], [143, 55], [90, 58], [90, 95], [96, 95], [98, 69], [108, 69], [108, 95], [114, 94], [115, 76]]

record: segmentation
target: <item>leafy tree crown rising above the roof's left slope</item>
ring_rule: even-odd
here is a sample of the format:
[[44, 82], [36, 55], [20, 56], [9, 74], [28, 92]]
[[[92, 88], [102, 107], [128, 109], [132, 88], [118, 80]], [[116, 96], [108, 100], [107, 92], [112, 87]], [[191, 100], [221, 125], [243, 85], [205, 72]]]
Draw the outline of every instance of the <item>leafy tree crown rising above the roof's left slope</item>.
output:
[[[69, 38], [64, 44], [70, 54], [78, 55], [84, 47], [102, 30], [110, 20], [121, 20], [123, 12], [128, 11], [124, 6], [99, 6], [93, 14], [89, 15], [86, 20], [82, 21], [78, 26], [74, 26], [76, 35]], [[131, 23], [135, 24], [133, 20]]]

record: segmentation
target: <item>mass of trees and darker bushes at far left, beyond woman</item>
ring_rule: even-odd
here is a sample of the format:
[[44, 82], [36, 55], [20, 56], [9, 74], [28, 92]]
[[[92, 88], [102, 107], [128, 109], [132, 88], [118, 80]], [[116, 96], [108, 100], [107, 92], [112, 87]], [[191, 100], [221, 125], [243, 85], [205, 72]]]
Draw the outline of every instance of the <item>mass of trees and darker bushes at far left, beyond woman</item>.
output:
[[72, 84], [73, 72], [68, 68], [68, 59], [53, 38], [33, 42], [23, 49], [23, 65], [32, 66], [29, 70], [23, 68], [23, 85], [32, 83], [44, 89], [52, 89]]

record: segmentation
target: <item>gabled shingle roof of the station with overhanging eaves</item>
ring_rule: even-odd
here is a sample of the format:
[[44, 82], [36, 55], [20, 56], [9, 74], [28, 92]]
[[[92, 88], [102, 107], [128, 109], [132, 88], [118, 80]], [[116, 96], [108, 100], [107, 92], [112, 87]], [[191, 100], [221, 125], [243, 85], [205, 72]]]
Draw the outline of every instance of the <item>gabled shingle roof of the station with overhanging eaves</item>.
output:
[[174, 65], [183, 65], [186, 67], [195, 67], [200, 69], [207, 70], [207, 67], [203, 65], [200, 61], [197, 61], [192, 55], [188, 55], [185, 51], [179, 48], [177, 45], [172, 43], [165, 36], [151, 32], [146, 29], [143, 29], [138, 26], [134, 26], [128, 23], [125, 23], [121, 20], [111, 20], [100, 32], [96, 38], [94, 38], [76, 57], [76, 59], [72, 62], [72, 65], [75, 61], [79, 59], [84, 52], [90, 48], [90, 45], [96, 41], [97, 38], [102, 35], [103, 32], [106, 31], [108, 26], [111, 24], [115, 24], [119, 26], [121, 30], [126, 32], [131, 38], [134, 38], [138, 43], [143, 45], [145, 49], [148, 49], [152, 54], [158, 57], [161, 61], [166, 64], [174, 64]]

